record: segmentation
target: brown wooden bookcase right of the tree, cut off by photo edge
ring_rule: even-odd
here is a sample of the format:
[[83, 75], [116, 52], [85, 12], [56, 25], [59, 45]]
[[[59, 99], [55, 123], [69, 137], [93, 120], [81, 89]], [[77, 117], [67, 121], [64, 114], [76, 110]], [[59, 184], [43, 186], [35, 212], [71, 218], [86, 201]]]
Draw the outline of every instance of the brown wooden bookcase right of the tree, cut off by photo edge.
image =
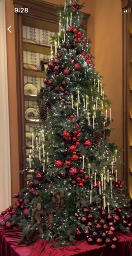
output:
[[122, 1], [124, 174], [127, 194], [132, 198], [132, 1]]

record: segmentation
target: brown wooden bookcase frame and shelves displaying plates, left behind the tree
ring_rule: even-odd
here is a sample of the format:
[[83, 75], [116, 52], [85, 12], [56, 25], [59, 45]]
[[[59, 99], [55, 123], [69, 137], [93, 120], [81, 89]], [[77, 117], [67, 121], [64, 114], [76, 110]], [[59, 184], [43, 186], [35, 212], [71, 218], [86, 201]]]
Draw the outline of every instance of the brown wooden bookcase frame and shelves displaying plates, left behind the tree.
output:
[[[39, 30], [58, 32], [59, 31], [59, 7], [41, 0], [14, 0], [14, 8], [28, 8], [28, 13], [15, 13], [15, 34], [16, 34], [16, 73], [17, 73], [17, 109], [18, 109], [18, 136], [19, 136], [19, 169], [24, 170], [27, 162], [29, 145], [26, 145], [26, 132], [31, 132], [32, 127], [40, 125], [39, 122], [32, 122], [25, 118], [25, 105], [32, 104], [37, 109], [37, 98], [31, 95], [25, 95], [25, 77], [33, 77], [41, 80], [41, 86], [44, 72], [40, 69], [32, 70], [23, 68], [23, 52], [50, 55], [50, 44], [35, 44], [31, 41], [23, 41], [23, 26], [33, 27]], [[86, 16], [86, 30], [87, 20]], [[48, 60], [45, 63], [48, 63]], [[44, 86], [44, 83], [43, 83]], [[40, 88], [39, 88], [40, 89]], [[29, 130], [28, 130], [29, 129]], [[26, 178], [32, 174], [32, 170], [20, 174], [20, 188], [26, 186]]]

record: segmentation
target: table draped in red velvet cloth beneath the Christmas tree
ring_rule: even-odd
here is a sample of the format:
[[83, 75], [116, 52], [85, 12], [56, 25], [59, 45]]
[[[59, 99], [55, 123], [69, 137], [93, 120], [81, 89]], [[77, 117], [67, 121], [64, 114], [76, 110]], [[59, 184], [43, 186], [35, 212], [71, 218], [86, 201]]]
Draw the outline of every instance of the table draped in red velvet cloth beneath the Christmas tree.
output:
[[117, 233], [119, 242], [115, 250], [106, 245], [89, 245], [86, 240], [76, 245], [52, 248], [51, 243], [39, 239], [35, 244], [18, 245], [21, 231], [0, 229], [0, 256], [132, 256], [132, 234]]

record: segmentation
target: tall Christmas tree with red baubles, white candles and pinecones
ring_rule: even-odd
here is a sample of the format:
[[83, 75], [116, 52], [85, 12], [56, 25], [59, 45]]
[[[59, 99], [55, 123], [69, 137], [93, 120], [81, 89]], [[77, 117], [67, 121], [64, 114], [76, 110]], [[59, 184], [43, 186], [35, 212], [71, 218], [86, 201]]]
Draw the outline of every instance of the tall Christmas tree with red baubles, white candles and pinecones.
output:
[[65, 245], [86, 238], [114, 249], [115, 230], [131, 232], [132, 222], [117, 178], [119, 148], [109, 141], [110, 100], [93, 64], [82, 7], [71, 0], [60, 7], [59, 34], [51, 40], [38, 96], [42, 126], [30, 161], [34, 177], [15, 194], [15, 208], [2, 212], [1, 225], [19, 224], [20, 243], [41, 237]]

